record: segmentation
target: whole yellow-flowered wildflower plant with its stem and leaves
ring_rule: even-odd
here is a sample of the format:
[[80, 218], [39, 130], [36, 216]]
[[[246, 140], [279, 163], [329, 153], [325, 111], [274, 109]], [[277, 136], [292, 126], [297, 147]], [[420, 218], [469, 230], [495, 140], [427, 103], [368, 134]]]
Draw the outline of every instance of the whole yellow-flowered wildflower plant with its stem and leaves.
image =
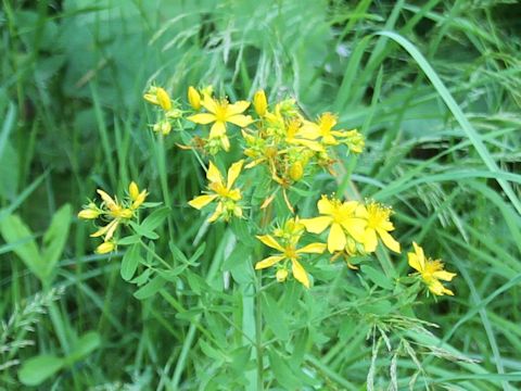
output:
[[[289, 327], [279, 319], [283, 316], [276, 308], [277, 292], [279, 298], [285, 298], [282, 302], [290, 303], [284, 311], [295, 313], [296, 299], [289, 295], [310, 300], [308, 292], [317, 289], [329, 292], [326, 300], [331, 300], [336, 285], [358, 283], [360, 289], [353, 288], [356, 293], [336, 300], [335, 314], [370, 325], [368, 338], [372, 337], [374, 346], [384, 340], [393, 354], [405, 352], [412, 357], [414, 342], [404, 330], [414, 327], [428, 332], [425, 324], [414, 316], [414, 303], [424, 298], [423, 292], [453, 295], [441, 280], [448, 282], [456, 275], [444, 270], [440, 261], [427, 257], [416, 242], [411, 243], [414, 252], [407, 255], [415, 273], [401, 275], [398, 265], [406, 262], [403, 249], [410, 245], [398, 239], [401, 230], [395, 226], [391, 205], [353, 197], [342, 186], [329, 192], [317, 188], [318, 175], [331, 182], [345, 181], [339, 171], [346, 160], [363, 153], [365, 147], [364, 136], [357, 129], [342, 128], [338, 115], [330, 112], [309, 118], [291, 98], [269, 102], [264, 90], [256, 91], [250, 102], [233, 101], [216, 93], [211, 86], [191, 86], [186, 99], [173, 100], [165, 88], [153, 86], [144, 99], [156, 108], [156, 122], [151, 128], [160, 144], [165, 146], [163, 139], [167, 137], [173, 139], [169, 144], [179, 147], [178, 153], [191, 151], [205, 173], [205, 180], [200, 193], [189, 195], [188, 205], [177, 210], [175, 203], [166, 205], [144, 220], [140, 220], [140, 210], [157, 204], [147, 204], [147, 190], [139, 190], [135, 182], [124, 198], [112, 198], [98, 190], [101, 203], [90, 201], [78, 214], [80, 218], [97, 222], [98, 229], [91, 236], [103, 240], [96, 250], [98, 253], [129, 245], [122, 261], [122, 276], [131, 280], [140, 270], [132, 280], [140, 286], [137, 298], [145, 299], [161, 291], [168, 302], [177, 302], [163, 289], [168, 281], [178, 286], [185, 281], [195, 291], [201, 290], [204, 283], [194, 268], [199, 266], [195, 261], [202, 256], [204, 243], [189, 257], [180, 253], [170, 237], [173, 258], [181, 262], [176, 264], [158, 254], [152, 242], [162, 240], [153, 229], [169, 213], [186, 213], [186, 207], [192, 207], [202, 213], [205, 227], [225, 226], [232, 238], [227, 239], [228, 255], [220, 267], [221, 272], [231, 273], [232, 282], [244, 294], [254, 298], [255, 310], [251, 313], [246, 311], [250, 302], [242, 305], [243, 321], [247, 324], [250, 316], [255, 330], [252, 333], [251, 328], [245, 328], [242, 332], [251, 343], [259, 389], [265, 382], [266, 349], [271, 352], [271, 365], [282, 360], [274, 355], [263, 329], [271, 330], [274, 344], [287, 339], [283, 330]], [[123, 229], [129, 229], [130, 235], [122, 237]], [[334, 263], [340, 258], [345, 266]], [[218, 272], [212, 265], [211, 276]], [[340, 278], [345, 278], [345, 282]], [[206, 289], [212, 291], [215, 288], [212, 287], [208, 285]], [[209, 299], [200, 294], [200, 301], [192, 304], [207, 308]], [[175, 307], [180, 310], [182, 305], [178, 303]], [[201, 316], [191, 320], [199, 325]], [[391, 331], [399, 336], [395, 348], [387, 338]], [[192, 332], [185, 344], [190, 346], [193, 338]], [[376, 357], [379, 350], [374, 349]], [[412, 360], [417, 362], [416, 356]]]

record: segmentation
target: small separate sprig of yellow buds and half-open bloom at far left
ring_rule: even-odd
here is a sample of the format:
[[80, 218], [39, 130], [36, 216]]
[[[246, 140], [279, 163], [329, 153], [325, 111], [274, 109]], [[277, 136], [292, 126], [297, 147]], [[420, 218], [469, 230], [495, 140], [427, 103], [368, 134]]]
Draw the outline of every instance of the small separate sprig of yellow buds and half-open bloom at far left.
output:
[[105, 191], [98, 189], [101, 197], [101, 204], [89, 202], [78, 213], [78, 217], [90, 219], [98, 223], [98, 230], [90, 236], [92, 238], [103, 238], [103, 242], [98, 245], [96, 252], [105, 254], [117, 248], [117, 229], [137, 217], [137, 211], [143, 206], [147, 199], [147, 190], [139, 190], [136, 182], [130, 182], [128, 187], [128, 197], [119, 201], [116, 197], [112, 198]]

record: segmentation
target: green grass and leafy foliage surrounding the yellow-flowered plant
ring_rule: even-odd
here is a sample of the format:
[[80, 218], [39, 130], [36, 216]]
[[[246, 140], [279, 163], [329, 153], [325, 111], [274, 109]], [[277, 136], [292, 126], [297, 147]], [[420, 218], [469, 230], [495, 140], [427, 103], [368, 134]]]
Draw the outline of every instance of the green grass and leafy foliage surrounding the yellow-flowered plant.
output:
[[[440, 326], [416, 340], [416, 358], [392, 353], [392, 352], [383, 341], [373, 354], [368, 319], [392, 324], [381, 302], [338, 312], [363, 289], [344, 265], [308, 292], [271, 287], [266, 389], [521, 387], [519, 12], [486, 0], [4, 0], [0, 389], [257, 387], [253, 298], [227, 282], [250, 281], [254, 260], [188, 207], [205, 184], [194, 157], [168, 139], [166, 155], [153, 147], [142, 100], [153, 80], [181, 100], [213, 84], [232, 100], [265, 88], [312, 117], [338, 112], [367, 149], [340, 184], [319, 176], [314, 188], [392, 204], [401, 241], [458, 273], [455, 298], [415, 305]], [[74, 217], [97, 188], [132, 179], [171, 209], [157, 253], [191, 264], [145, 300], [119, 276], [123, 253], [92, 255], [91, 227]]]

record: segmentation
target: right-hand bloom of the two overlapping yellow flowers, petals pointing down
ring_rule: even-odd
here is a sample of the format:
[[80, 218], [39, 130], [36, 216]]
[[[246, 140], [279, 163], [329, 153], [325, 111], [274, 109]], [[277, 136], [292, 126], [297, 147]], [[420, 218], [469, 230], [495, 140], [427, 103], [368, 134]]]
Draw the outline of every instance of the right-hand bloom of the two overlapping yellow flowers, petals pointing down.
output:
[[378, 237], [382, 239], [383, 244], [394, 252], [399, 253], [399, 243], [389, 234], [394, 230], [393, 223], [390, 222], [392, 213], [391, 207], [371, 202], [367, 206], [363, 206], [359, 215], [367, 220], [364, 247], [367, 252], [377, 250]]

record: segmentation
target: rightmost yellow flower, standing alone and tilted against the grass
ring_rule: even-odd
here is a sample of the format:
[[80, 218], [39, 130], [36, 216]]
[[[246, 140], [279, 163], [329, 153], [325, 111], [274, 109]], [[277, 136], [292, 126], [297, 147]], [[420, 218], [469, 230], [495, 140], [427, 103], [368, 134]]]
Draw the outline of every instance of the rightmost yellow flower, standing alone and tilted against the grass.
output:
[[436, 295], [454, 295], [454, 292], [445, 288], [440, 280], [450, 281], [456, 277], [456, 274], [444, 270], [444, 265], [440, 260], [433, 261], [431, 258], [425, 258], [423, 249], [415, 242], [412, 242], [412, 245], [415, 252], [407, 253], [409, 266], [415, 270], [418, 270], [429, 290]]

